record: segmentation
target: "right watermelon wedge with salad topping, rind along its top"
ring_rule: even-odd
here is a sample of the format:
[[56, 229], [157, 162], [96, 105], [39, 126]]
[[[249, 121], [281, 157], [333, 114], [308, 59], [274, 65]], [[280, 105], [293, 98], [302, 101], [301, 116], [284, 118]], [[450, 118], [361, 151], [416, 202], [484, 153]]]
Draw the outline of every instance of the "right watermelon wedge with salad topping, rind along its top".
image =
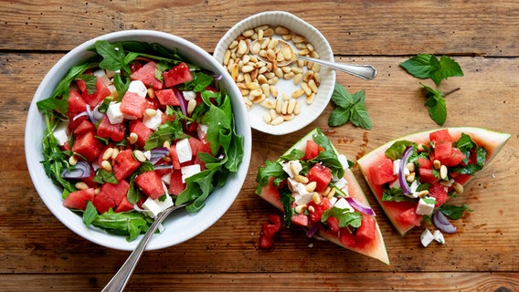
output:
[[406, 235], [461, 194], [509, 139], [507, 133], [472, 127], [427, 130], [389, 141], [357, 164], [391, 223]]

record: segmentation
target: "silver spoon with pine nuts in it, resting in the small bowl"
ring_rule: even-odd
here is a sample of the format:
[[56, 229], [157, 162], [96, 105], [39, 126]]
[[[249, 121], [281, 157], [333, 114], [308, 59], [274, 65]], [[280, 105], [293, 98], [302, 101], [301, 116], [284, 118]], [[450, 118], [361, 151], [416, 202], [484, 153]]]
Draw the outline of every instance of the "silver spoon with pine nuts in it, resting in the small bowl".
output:
[[[258, 49], [261, 47], [261, 42], [259, 40], [254, 40], [252, 43], [250, 43], [250, 51], [254, 56], [258, 57], [260, 60], [264, 62], [276, 62], [278, 67], [288, 66], [292, 62], [302, 59], [305, 61], [317, 63], [323, 66], [327, 66], [329, 68], [334, 68], [336, 70], [348, 73], [350, 75], [353, 75], [358, 78], [362, 78], [364, 80], [371, 80], [376, 77], [376, 68], [374, 68], [371, 65], [351, 65], [351, 64], [345, 64], [340, 62], [331, 62], [326, 61], [318, 58], [313, 57], [305, 57], [301, 56], [295, 53], [294, 47], [288, 42], [286, 42], [283, 39], [279, 38], [271, 38], [270, 41], [275, 40], [277, 42], [277, 45], [275, 46], [275, 51], [272, 49], [272, 52], [274, 52], [274, 56], [272, 56], [272, 53], [268, 50], [260, 50]], [[283, 58], [280, 60], [277, 59], [277, 54], [275, 52], [278, 52], [278, 54], [281, 54]], [[262, 54], [263, 52], [263, 54]]]

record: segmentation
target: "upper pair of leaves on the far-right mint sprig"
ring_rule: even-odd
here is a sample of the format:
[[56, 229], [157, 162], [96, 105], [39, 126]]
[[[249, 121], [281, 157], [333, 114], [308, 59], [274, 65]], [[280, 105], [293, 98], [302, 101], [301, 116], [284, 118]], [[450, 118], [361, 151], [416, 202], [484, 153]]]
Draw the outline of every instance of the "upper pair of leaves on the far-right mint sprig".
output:
[[463, 76], [460, 65], [445, 55], [439, 60], [431, 54], [418, 54], [400, 63], [400, 67], [416, 78], [431, 78], [436, 86], [439, 86], [443, 79]]

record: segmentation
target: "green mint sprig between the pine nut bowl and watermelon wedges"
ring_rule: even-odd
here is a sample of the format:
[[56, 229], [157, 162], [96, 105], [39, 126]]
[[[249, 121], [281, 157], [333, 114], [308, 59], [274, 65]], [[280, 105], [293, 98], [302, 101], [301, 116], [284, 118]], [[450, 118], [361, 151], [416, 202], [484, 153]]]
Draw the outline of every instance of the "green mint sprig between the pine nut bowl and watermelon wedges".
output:
[[351, 121], [355, 126], [371, 130], [371, 119], [365, 107], [365, 90], [351, 94], [338, 83], [335, 84], [332, 101], [336, 108], [328, 118], [331, 127], [342, 126]]

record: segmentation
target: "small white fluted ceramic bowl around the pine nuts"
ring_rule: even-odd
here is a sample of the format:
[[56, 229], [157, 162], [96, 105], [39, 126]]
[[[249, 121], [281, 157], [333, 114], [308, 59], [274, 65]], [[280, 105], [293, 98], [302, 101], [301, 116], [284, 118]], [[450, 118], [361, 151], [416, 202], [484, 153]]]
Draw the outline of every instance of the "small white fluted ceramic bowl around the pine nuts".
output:
[[[321, 59], [334, 61], [332, 48], [323, 34], [301, 18], [283, 11], [262, 12], [241, 20], [238, 24], [232, 26], [218, 41], [213, 56], [217, 59], [218, 63], [222, 64], [224, 54], [233, 40], [250, 28], [265, 25], [271, 27], [285, 26], [291, 29], [293, 33], [306, 37], [307, 43], [312, 44], [315, 51], [319, 53]], [[300, 102], [302, 104], [302, 110], [293, 120], [285, 121], [280, 125], [270, 125], [263, 120], [263, 115], [269, 112], [269, 110], [264, 109], [259, 104], [254, 104], [249, 110], [250, 126], [253, 129], [265, 133], [283, 135], [296, 130], [301, 130], [313, 120], [319, 118], [332, 98], [335, 86], [335, 71], [331, 68], [321, 67], [320, 74], [321, 84], [313, 103], [307, 105], [304, 95], [299, 98], [301, 99]], [[296, 87], [292, 80], [281, 80], [276, 84], [276, 87], [280, 92], [285, 92], [289, 95], [291, 95], [291, 92], [295, 89], [301, 89], [301, 87]]]

